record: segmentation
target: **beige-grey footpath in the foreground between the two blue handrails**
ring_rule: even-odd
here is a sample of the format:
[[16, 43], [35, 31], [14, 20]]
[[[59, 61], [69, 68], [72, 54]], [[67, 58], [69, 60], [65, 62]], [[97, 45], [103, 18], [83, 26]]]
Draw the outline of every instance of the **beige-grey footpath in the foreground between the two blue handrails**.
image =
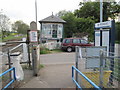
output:
[[39, 76], [33, 77], [21, 88], [75, 88], [72, 81], [73, 64], [45, 65]]

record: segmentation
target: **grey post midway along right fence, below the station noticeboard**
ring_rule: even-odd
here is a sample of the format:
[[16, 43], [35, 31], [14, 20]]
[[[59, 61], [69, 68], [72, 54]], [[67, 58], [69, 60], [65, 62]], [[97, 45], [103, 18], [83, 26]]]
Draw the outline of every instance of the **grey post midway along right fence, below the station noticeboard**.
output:
[[99, 75], [99, 86], [103, 88], [103, 50], [100, 50], [100, 75]]

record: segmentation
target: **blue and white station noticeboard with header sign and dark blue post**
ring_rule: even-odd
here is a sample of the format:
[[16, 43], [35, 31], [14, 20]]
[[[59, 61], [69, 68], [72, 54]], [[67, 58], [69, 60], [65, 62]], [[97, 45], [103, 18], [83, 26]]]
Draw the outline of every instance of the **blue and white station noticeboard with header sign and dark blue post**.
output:
[[[106, 21], [95, 24], [94, 45], [107, 46], [107, 55], [113, 56], [115, 46], [115, 21]], [[109, 53], [111, 52], [111, 53]], [[111, 60], [111, 71], [114, 71], [114, 60]], [[113, 72], [110, 76], [110, 84], [113, 84]]]

